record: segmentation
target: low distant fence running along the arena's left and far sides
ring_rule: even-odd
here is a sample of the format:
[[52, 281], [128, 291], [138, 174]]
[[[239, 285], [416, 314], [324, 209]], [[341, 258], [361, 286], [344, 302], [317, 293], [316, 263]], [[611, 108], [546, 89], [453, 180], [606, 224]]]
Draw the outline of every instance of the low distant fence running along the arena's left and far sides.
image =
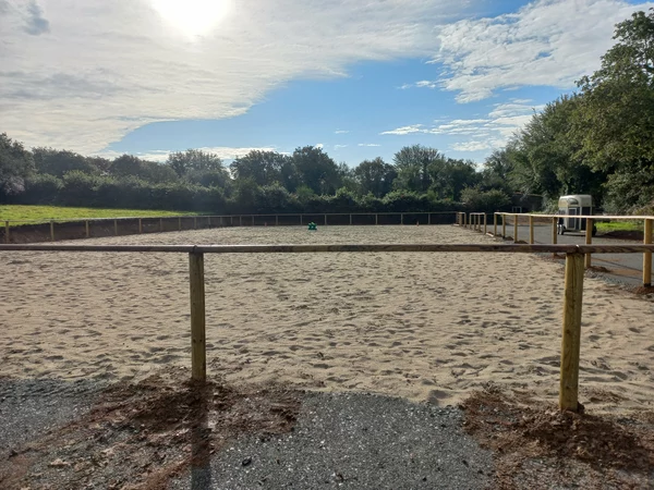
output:
[[[269, 215], [197, 215], [166, 217], [121, 217], [95, 219], [1, 220], [4, 223], [2, 242], [12, 242], [17, 230], [41, 232], [44, 241], [120, 236], [140, 233], [198, 230], [222, 226], [290, 226], [316, 222], [322, 225], [382, 225], [382, 224], [451, 224], [457, 211], [436, 212], [329, 212], [329, 213], [269, 213]], [[27, 224], [25, 224], [27, 223]], [[33, 224], [28, 224], [33, 223]], [[59, 233], [62, 226], [65, 233]], [[100, 229], [98, 231], [98, 228]]]

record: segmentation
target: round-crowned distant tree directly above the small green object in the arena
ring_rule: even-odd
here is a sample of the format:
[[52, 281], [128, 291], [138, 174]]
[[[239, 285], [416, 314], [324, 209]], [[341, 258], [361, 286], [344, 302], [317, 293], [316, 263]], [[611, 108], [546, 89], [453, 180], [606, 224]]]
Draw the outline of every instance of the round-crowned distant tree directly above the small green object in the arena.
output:
[[334, 195], [341, 180], [336, 162], [323, 148], [296, 148], [291, 157], [300, 182], [317, 195]]

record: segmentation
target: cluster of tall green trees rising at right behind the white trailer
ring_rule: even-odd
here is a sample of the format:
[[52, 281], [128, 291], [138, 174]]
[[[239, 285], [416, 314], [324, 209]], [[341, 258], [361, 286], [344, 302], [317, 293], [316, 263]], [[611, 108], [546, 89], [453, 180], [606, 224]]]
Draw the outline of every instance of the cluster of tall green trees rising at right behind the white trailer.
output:
[[485, 168], [523, 193], [591, 194], [610, 212], [654, 211], [654, 10], [616, 25], [602, 66], [534, 114]]

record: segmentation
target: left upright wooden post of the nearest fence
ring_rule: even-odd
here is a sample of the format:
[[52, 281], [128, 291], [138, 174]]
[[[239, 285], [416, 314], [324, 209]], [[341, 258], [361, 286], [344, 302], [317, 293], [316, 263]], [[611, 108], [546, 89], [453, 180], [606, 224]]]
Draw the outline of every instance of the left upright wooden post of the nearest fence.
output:
[[204, 382], [207, 378], [207, 353], [205, 346], [205, 291], [204, 255], [189, 254], [189, 279], [191, 283], [191, 377]]

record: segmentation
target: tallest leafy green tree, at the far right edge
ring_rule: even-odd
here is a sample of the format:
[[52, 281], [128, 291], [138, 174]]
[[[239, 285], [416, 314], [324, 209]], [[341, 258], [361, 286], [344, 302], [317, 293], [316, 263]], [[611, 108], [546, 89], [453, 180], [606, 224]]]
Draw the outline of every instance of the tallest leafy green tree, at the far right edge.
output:
[[617, 24], [614, 39], [579, 82], [576, 135], [584, 161], [609, 174], [613, 207], [627, 210], [654, 200], [654, 10]]

